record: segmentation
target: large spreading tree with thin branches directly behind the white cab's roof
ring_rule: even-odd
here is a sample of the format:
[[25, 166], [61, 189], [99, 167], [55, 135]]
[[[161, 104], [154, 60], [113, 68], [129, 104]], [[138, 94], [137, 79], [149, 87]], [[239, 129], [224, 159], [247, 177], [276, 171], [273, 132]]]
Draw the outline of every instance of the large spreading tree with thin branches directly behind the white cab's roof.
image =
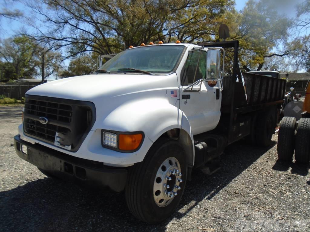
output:
[[[32, 35], [53, 49], [113, 54], [142, 42], [180, 39], [193, 42], [214, 36], [232, 0], [43, 0], [29, 6], [50, 28], [36, 25]], [[48, 10], [46, 10], [48, 8]], [[38, 17], [39, 17], [38, 16]]]

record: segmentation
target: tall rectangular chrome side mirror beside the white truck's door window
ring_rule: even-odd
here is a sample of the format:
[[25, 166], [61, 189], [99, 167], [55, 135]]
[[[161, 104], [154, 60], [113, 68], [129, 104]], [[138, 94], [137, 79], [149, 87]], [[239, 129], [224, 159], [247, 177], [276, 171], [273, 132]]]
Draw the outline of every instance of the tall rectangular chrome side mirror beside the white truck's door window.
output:
[[207, 51], [207, 79], [219, 80], [220, 79], [220, 66], [221, 51], [219, 49], [209, 49]]

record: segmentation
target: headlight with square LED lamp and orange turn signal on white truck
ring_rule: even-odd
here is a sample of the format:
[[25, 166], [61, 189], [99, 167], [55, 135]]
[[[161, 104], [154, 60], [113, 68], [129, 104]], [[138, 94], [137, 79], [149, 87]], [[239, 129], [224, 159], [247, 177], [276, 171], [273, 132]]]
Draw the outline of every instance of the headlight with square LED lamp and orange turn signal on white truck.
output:
[[144, 133], [142, 131], [120, 132], [102, 130], [101, 132], [102, 146], [119, 152], [135, 152], [141, 147], [143, 140]]

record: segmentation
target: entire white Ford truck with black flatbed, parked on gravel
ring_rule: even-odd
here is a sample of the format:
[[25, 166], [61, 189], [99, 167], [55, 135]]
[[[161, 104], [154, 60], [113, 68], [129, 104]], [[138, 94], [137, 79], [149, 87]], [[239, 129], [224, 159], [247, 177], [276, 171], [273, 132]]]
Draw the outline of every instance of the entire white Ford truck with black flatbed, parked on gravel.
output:
[[48, 176], [116, 192], [147, 223], [175, 211], [193, 168], [224, 148], [268, 146], [286, 81], [244, 73], [238, 41], [126, 49], [92, 75], [29, 90], [16, 152]]

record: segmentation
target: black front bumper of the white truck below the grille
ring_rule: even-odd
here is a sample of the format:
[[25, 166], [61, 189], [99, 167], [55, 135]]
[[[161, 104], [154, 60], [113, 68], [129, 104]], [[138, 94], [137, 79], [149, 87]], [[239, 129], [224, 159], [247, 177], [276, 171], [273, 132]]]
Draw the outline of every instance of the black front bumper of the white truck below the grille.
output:
[[127, 170], [103, 165], [102, 162], [73, 157], [40, 144], [14, 137], [17, 155], [53, 176], [89, 187], [120, 192], [125, 188]]

